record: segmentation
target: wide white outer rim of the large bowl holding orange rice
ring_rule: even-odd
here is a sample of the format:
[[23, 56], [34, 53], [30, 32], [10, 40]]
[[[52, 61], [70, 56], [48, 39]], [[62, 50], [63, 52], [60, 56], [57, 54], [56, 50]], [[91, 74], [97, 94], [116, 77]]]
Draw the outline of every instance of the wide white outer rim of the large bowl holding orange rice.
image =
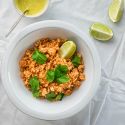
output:
[[[94, 85], [93, 86], [94, 88], [92, 89], [92, 92], [91, 92], [91, 95], [89, 96], [88, 100], [86, 102], [84, 102], [84, 104], [81, 102], [80, 106], [77, 107], [77, 109], [73, 109], [70, 110], [69, 112], [65, 112], [63, 113], [62, 115], [58, 115], [56, 117], [54, 117], [53, 114], [48, 114], [48, 116], [42, 116], [40, 114], [35, 114], [35, 112], [31, 111], [30, 109], [26, 109], [25, 108], [25, 105], [21, 105], [17, 100], [17, 98], [11, 94], [11, 91], [9, 90], [8, 88], [8, 81], [7, 81], [7, 78], [6, 78], [6, 74], [7, 74], [7, 71], [5, 70], [6, 69], [6, 64], [7, 64], [7, 59], [9, 58], [8, 57], [8, 52], [11, 52], [15, 46], [15, 44], [17, 44], [17, 42], [19, 41], [19, 39], [21, 39], [23, 36], [29, 34], [30, 32], [34, 31], [34, 30], [38, 30], [38, 29], [41, 29], [41, 28], [46, 28], [46, 27], [58, 27], [58, 28], [64, 28], [64, 29], [67, 29], [67, 30], [73, 30], [74, 33], [76, 33], [77, 35], [79, 34], [79, 36], [81, 38], [83, 38], [85, 41], [89, 41], [89, 42], [86, 42], [86, 44], [88, 45], [89, 49], [91, 49], [91, 51], [93, 52], [92, 55], [93, 55], [93, 62], [94, 62], [94, 65], [96, 66], [96, 72], [94, 72], [96, 74], [96, 78], [94, 78]], [[17, 40], [18, 39], [18, 40]], [[16, 41], [17, 40], [17, 41]], [[15, 41], [15, 43], [13, 43]], [[64, 118], [67, 118], [67, 117], [71, 117], [72, 115], [78, 113], [79, 111], [81, 111], [81, 109], [83, 109], [88, 103], [89, 101], [92, 99], [92, 97], [95, 95], [95, 92], [97, 91], [97, 88], [99, 86], [99, 82], [100, 82], [100, 78], [101, 78], [101, 63], [100, 63], [100, 60], [99, 60], [99, 56], [98, 56], [98, 53], [94, 47], [94, 44], [90, 41], [90, 39], [85, 36], [84, 33], [82, 33], [78, 28], [76, 28], [74, 25], [71, 25], [67, 22], [63, 22], [63, 21], [58, 21], [58, 20], [47, 20], [47, 21], [41, 21], [41, 22], [37, 22], [37, 23], [34, 23], [34, 24], [31, 24], [29, 26], [27, 26], [26, 28], [24, 28], [21, 32], [19, 32], [17, 35], [15, 35], [15, 37], [13, 39], [11, 39], [9, 45], [8, 45], [8, 50], [6, 51], [4, 57], [3, 57], [3, 60], [2, 60], [2, 69], [1, 69], [1, 76], [2, 76], [2, 83], [3, 86], [4, 86], [4, 89], [8, 95], [8, 97], [10, 98], [11, 102], [18, 108], [20, 109], [22, 112], [24, 112], [25, 114], [28, 114], [32, 117], [35, 117], [35, 118], [39, 118], [39, 119], [44, 119], [44, 120], [59, 120], [59, 119], [64, 119]], [[75, 106], [76, 107], [76, 106]]]

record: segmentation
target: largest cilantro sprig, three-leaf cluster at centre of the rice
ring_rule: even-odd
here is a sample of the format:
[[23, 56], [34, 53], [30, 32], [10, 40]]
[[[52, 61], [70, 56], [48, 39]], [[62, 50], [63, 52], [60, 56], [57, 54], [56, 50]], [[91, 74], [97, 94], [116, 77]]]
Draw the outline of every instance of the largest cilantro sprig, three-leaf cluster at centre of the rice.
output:
[[66, 83], [70, 80], [67, 75], [68, 67], [66, 65], [57, 65], [54, 70], [48, 70], [46, 79], [51, 83], [53, 81], [58, 84]]

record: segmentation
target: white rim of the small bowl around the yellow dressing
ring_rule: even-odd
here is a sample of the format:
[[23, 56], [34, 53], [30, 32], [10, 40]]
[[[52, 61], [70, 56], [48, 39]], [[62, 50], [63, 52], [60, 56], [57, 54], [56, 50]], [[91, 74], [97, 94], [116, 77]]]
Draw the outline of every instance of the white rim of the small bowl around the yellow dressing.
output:
[[[13, 0], [13, 4], [14, 4], [14, 6], [15, 6], [17, 12], [18, 12], [20, 15], [22, 15], [22, 11], [16, 6], [15, 0]], [[39, 13], [34, 14], [34, 15], [24, 15], [24, 16], [25, 16], [25, 17], [29, 17], [29, 18], [39, 17], [39, 16], [43, 15], [43, 14], [46, 12], [46, 10], [48, 9], [48, 7], [49, 7], [49, 0], [47, 0], [47, 3], [46, 3], [46, 5], [45, 5], [44, 9], [41, 10]]]

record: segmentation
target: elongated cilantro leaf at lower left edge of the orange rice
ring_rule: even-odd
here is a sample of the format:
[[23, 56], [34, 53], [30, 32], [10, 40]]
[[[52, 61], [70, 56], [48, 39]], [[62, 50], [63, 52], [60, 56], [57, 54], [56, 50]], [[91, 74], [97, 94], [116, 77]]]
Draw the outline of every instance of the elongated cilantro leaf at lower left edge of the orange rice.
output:
[[29, 83], [31, 86], [31, 91], [32, 91], [33, 96], [38, 98], [40, 82], [39, 82], [37, 76], [30, 78]]

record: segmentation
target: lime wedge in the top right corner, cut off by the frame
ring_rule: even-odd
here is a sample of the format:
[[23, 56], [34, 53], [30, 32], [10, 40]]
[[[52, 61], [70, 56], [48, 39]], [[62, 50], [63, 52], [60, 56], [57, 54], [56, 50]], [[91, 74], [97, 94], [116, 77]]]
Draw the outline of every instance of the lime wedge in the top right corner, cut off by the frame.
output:
[[124, 10], [124, 0], [113, 0], [109, 6], [109, 17], [113, 22], [118, 22], [122, 18]]

